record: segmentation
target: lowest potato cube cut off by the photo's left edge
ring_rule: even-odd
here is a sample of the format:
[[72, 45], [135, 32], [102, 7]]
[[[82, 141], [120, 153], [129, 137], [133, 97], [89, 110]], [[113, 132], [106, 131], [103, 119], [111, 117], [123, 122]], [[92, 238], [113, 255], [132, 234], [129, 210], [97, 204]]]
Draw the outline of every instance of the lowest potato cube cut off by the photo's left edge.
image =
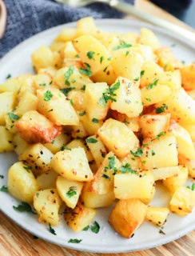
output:
[[12, 139], [13, 134], [5, 126], [0, 126], [0, 153], [14, 150]]

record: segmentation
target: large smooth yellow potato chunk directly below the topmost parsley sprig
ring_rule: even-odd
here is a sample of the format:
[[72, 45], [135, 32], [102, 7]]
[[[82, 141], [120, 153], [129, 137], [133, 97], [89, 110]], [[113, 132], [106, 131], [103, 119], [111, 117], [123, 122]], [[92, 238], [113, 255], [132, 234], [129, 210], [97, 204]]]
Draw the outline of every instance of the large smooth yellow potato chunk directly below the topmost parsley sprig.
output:
[[[127, 54], [128, 52], [129, 54]], [[113, 60], [111, 64], [117, 77], [121, 76], [130, 81], [135, 80], [137, 81], [137, 84], [139, 84], [141, 66], [143, 64], [143, 57], [141, 54], [130, 50], [130, 48], [113, 50]]]

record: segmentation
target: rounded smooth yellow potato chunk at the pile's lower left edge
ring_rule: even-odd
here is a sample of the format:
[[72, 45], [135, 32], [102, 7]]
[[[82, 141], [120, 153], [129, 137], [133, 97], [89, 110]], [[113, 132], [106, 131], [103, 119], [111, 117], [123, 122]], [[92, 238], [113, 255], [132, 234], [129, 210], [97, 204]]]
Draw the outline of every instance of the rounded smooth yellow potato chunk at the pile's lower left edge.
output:
[[8, 170], [8, 191], [14, 198], [22, 202], [33, 202], [34, 194], [38, 191], [38, 182], [30, 166], [16, 162]]

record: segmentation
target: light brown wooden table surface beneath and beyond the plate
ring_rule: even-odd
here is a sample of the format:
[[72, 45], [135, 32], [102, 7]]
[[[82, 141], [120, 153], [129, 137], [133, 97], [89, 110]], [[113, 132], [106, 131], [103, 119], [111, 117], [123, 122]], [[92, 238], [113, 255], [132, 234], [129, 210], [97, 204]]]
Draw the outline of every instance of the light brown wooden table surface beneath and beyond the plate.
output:
[[[136, 6], [149, 14], [156, 14], [188, 30], [193, 30], [172, 15], [161, 10], [146, 0], [137, 0]], [[128, 17], [126, 17], [128, 18]], [[194, 30], [193, 30], [194, 31]], [[70, 250], [61, 246], [55, 246], [42, 239], [34, 239], [32, 234], [22, 230], [4, 214], [0, 213], [0, 256], [194, 256], [195, 255], [195, 231], [169, 242], [164, 246], [158, 246], [150, 250], [125, 254], [93, 254]]]

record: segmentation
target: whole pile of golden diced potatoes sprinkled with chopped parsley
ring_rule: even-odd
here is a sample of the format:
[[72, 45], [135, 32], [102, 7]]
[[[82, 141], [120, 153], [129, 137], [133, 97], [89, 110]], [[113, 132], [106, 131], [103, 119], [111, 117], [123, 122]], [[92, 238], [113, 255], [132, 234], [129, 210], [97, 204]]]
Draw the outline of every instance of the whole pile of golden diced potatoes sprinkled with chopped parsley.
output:
[[[0, 152], [18, 154], [8, 191], [39, 222], [74, 231], [111, 206], [109, 223], [130, 238], [146, 220], [195, 206], [195, 65], [185, 66], [151, 30], [98, 30], [93, 18], [65, 28], [32, 54], [36, 74], [0, 85]], [[149, 206], [161, 182], [166, 207]]]

